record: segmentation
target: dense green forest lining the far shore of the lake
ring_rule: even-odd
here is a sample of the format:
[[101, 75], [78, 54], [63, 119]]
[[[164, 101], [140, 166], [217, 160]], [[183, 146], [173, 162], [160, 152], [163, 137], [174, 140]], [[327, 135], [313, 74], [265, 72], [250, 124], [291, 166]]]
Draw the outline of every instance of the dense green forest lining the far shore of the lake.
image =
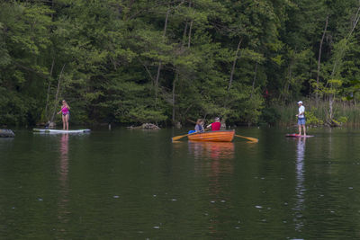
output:
[[[358, 0], [0, 2], [0, 125], [275, 122], [356, 106]], [[306, 103], [305, 103], [306, 105]]]

